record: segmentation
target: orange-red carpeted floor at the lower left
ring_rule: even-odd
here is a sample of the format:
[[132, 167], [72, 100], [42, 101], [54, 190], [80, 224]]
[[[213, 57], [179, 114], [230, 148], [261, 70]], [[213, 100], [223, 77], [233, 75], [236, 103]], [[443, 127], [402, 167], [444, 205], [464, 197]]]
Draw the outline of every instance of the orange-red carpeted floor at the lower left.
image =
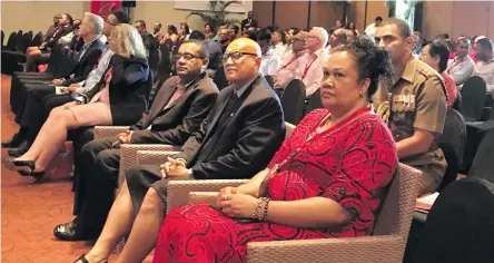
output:
[[[18, 126], [9, 104], [10, 77], [1, 76], [1, 139]], [[7, 150], [2, 149], [2, 157]], [[73, 193], [69, 179], [32, 183], [16, 172], [1, 168], [2, 263], [69, 263], [90, 250], [89, 242], [62, 242], [53, 237], [56, 224], [70, 222]], [[110, 257], [115, 261], [117, 255]], [[145, 262], [151, 262], [150, 257]]]

